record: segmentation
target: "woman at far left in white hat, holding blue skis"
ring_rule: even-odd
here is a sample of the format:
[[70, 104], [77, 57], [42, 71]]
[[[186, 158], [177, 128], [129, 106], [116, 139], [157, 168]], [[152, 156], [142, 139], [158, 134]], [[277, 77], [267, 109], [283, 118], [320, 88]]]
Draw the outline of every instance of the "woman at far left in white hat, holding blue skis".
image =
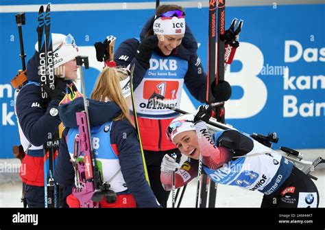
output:
[[34, 56], [27, 63], [28, 83], [16, 98], [19, 136], [26, 153], [20, 176], [28, 207], [45, 207], [43, 143], [49, 133], [58, 132], [61, 123], [58, 104], [65, 95], [67, 84], [77, 78], [75, 57], [79, 51], [73, 36], [52, 34], [52, 44], [55, 89], [44, 87], [49, 95], [46, 108], [41, 106], [38, 43]]

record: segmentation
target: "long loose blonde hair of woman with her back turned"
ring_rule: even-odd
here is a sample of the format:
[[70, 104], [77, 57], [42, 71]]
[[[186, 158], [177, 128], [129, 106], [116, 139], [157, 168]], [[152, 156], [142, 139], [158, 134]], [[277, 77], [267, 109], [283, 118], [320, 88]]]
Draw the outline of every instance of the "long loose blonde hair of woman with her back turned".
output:
[[121, 108], [122, 113], [115, 117], [113, 121], [119, 121], [123, 118], [128, 119], [134, 126], [128, 104], [123, 97], [119, 82], [128, 78], [128, 75], [116, 68], [105, 67], [96, 80], [91, 99], [105, 102], [106, 99], [115, 102]]

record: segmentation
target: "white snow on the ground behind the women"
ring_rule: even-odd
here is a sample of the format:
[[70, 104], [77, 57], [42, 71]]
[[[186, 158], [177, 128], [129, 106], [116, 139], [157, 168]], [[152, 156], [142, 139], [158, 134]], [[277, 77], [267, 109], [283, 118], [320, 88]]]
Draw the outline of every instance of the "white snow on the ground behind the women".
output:
[[[301, 150], [304, 153], [304, 159], [314, 160], [317, 156], [325, 159], [325, 150]], [[16, 163], [16, 161], [14, 161]], [[325, 207], [325, 165], [316, 168], [313, 175], [318, 178], [314, 181], [320, 193], [320, 207]], [[3, 183], [3, 177], [0, 177], [0, 207], [22, 207], [21, 183], [17, 182], [16, 176]], [[180, 207], [195, 207], [197, 180], [189, 183], [182, 199]], [[260, 207], [263, 194], [260, 192], [251, 192], [239, 187], [218, 185], [217, 202], [215, 207]], [[171, 207], [171, 197], [169, 198], [169, 207]]]

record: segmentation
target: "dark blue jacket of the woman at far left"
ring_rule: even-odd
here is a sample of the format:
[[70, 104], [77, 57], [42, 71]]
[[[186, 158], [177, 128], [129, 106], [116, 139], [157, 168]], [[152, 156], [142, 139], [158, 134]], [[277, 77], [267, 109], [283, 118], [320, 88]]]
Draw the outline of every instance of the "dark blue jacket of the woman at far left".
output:
[[[38, 53], [29, 59], [27, 63], [28, 81], [40, 82], [38, 75]], [[36, 84], [27, 84], [21, 89], [16, 99], [16, 111], [19, 124], [27, 140], [34, 146], [42, 146], [49, 133], [55, 133], [60, 124], [60, 117], [52, 117], [49, 114], [51, 108], [57, 108], [59, 100], [51, 100], [47, 104], [46, 111], [41, 108], [40, 87]]]

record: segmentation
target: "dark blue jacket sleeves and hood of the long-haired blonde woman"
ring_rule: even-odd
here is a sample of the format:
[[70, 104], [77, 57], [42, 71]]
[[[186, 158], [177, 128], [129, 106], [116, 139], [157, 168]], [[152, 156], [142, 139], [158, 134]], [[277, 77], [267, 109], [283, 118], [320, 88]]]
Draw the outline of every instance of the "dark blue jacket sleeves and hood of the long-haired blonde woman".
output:
[[[60, 141], [60, 154], [58, 155], [54, 177], [62, 186], [75, 183], [75, 173], [67, 147], [67, 133], [69, 128], [77, 127], [75, 113], [84, 110], [84, 102], [79, 97], [69, 104], [59, 106], [59, 114], [65, 128]], [[89, 100], [89, 117], [91, 126], [99, 126], [111, 121], [121, 113], [121, 109], [113, 102], [98, 102]], [[128, 138], [123, 138], [123, 137]], [[159, 207], [156, 197], [145, 180], [143, 160], [136, 130], [128, 122], [122, 119], [112, 123], [110, 131], [110, 143], [116, 144], [119, 152], [119, 164], [125, 183], [139, 207]]]

